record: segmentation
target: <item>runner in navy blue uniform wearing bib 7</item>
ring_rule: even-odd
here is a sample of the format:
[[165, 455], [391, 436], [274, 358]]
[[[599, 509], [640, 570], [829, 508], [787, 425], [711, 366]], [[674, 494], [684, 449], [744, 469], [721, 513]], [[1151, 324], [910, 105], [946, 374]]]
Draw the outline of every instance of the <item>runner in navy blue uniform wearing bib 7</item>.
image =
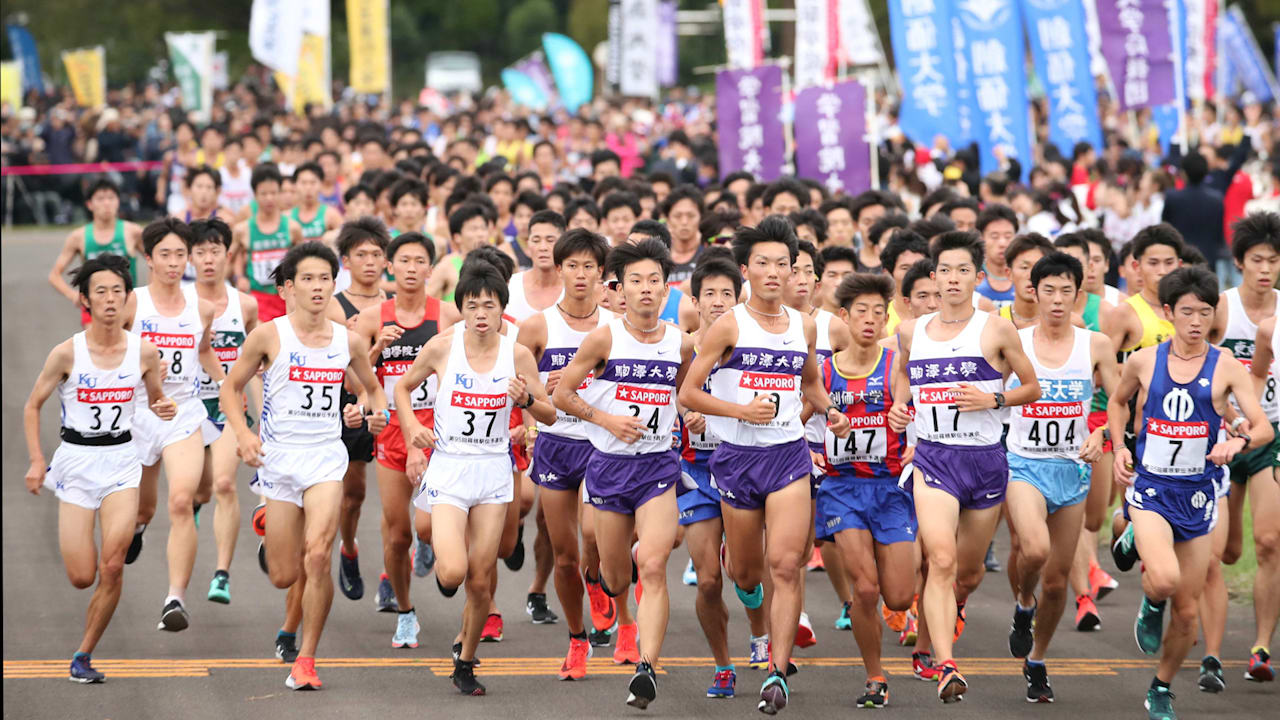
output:
[[[1137, 250], [1137, 241], [1134, 245], [1135, 256], [1146, 258]], [[1143, 296], [1148, 290], [1143, 288]], [[1147, 655], [1156, 655], [1164, 647], [1147, 691], [1147, 714], [1153, 720], [1171, 720], [1176, 715], [1169, 685], [1196, 638], [1208, 571], [1210, 533], [1217, 515], [1213, 496], [1221, 479], [1217, 466], [1242, 452], [1267, 446], [1274, 434], [1248, 373], [1238, 360], [1207, 342], [1219, 302], [1217, 277], [1199, 268], [1174, 270], [1160, 281], [1160, 302], [1172, 323], [1172, 338], [1129, 357], [1107, 402], [1107, 424], [1112, 436], [1124, 432], [1129, 424], [1129, 401], [1138, 398], [1140, 420], [1137, 421], [1143, 428], [1138, 452], [1133, 455], [1128, 447], [1116, 450], [1115, 478], [1129, 488], [1125, 514], [1134, 528], [1132, 544], [1143, 561], [1144, 597], [1134, 621], [1134, 638]], [[1252, 437], [1240, 433], [1211, 446], [1210, 437], [1231, 396], [1248, 420]], [[1172, 611], [1165, 630], [1170, 600]]]

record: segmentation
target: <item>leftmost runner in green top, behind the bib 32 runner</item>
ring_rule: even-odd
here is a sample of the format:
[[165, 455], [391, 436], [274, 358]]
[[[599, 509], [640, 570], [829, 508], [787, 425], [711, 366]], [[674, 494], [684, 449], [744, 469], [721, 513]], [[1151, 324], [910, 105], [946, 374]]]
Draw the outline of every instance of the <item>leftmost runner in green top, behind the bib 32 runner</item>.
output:
[[81, 301], [79, 291], [63, 279], [67, 268], [81, 256], [84, 261], [99, 255], [110, 252], [129, 260], [131, 287], [138, 282], [138, 252], [142, 246], [142, 227], [119, 218], [120, 188], [111, 181], [104, 178], [90, 186], [84, 193], [92, 220], [81, 228], [72, 231], [63, 242], [63, 251], [54, 260], [54, 266], [49, 270], [49, 284], [63, 297], [70, 300], [81, 309], [81, 325], [88, 325], [88, 309]]

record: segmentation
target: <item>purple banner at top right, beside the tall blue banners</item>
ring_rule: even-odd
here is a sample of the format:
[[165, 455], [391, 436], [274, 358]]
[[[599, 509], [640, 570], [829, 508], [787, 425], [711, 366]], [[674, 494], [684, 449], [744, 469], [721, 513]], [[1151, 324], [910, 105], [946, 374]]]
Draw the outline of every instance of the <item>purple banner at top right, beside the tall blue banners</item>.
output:
[[1176, 63], [1165, 0], [1097, 0], [1102, 56], [1123, 110], [1174, 102]]

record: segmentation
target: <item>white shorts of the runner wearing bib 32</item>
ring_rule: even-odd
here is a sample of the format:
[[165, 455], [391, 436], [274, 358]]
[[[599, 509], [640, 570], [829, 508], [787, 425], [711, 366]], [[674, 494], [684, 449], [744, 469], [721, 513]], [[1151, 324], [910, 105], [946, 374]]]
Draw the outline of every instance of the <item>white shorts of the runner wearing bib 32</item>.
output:
[[141, 479], [142, 462], [133, 442], [108, 446], [64, 442], [54, 451], [45, 487], [63, 502], [97, 510], [102, 498], [136, 488]]

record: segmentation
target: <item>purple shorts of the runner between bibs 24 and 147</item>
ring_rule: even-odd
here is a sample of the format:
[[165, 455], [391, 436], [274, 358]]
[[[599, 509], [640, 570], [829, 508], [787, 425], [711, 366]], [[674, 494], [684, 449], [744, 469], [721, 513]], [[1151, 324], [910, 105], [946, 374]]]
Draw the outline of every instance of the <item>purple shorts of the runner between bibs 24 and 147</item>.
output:
[[813, 460], [804, 438], [764, 447], [722, 442], [709, 465], [721, 501], [739, 510], [759, 510], [772, 493], [791, 483], [813, 482]]

